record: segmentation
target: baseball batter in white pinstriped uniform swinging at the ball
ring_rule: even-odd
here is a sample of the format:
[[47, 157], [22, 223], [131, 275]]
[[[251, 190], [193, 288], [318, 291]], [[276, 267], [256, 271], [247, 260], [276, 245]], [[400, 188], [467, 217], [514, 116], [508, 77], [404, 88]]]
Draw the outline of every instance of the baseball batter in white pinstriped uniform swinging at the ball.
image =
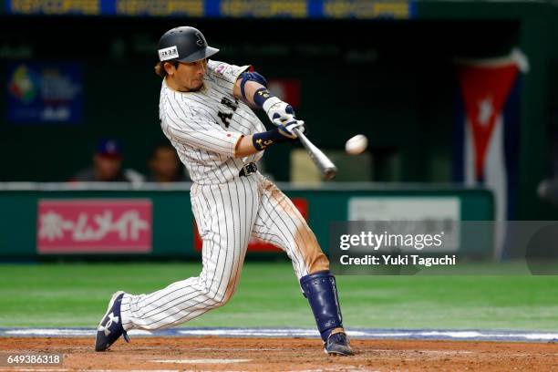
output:
[[[158, 49], [160, 125], [193, 181], [202, 273], [152, 294], [113, 294], [95, 349], [107, 350], [119, 336], [129, 341], [129, 329], [169, 328], [225, 305], [254, 236], [281, 247], [292, 260], [325, 352], [352, 355], [327, 257], [293, 202], [255, 165], [266, 148], [296, 140], [293, 129], [304, 131], [304, 121], [267, 90], [265, 78], [251, 66], [208, 59], [219, 50], [196, 28], [171, 29]], [[249, 105], [263, 109], [274, 129], [266, 130]]]

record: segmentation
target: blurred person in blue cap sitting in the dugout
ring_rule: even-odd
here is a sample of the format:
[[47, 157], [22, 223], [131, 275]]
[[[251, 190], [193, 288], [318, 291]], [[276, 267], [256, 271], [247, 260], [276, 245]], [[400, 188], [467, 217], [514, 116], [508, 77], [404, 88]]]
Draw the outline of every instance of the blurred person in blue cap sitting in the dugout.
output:
[[99, 140], [93, 155], [93, 166], [79, 171], [71, 181], [88, 182], [141, 182], [144, 176], [138, 171], [122, 169], [122, 146], [118, 140]]

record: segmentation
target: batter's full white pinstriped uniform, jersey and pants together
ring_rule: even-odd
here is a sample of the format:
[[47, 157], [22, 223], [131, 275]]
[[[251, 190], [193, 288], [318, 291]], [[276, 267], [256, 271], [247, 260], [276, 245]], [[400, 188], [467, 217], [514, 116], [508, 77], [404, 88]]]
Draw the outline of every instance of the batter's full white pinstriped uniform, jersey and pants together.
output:
[[[238, 140], [265, 130], [252, 109], [233, 96], [247, 68], [210, 60], [203, 87], [195, 92], [173, 90], [163, 79], [160, 125], [193, 181], [191, 209], [203, 241], [202, 273], [152, 294], [125, 294], [125, 330], [180, 325], [224, 305], [240, 280], [252, 236], [281, 247], [298, 279], [328, 269], [314, 233], [283, 192], [259, 172], [239, 175], [263, 151], [235, 159]], [[177, 218], [184, 212], [177, 210]]]

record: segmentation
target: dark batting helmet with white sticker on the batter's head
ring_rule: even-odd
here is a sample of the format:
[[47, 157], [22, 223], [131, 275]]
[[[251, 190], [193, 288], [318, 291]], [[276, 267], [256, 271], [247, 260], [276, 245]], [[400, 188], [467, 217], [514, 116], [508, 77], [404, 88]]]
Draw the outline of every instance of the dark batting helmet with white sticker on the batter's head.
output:
[[203, 58], [211, 57], [219, 51], [207, 45], [203, 34], [194, 27], [181, 26], [160, 36], [159, 60], [194, 62]]

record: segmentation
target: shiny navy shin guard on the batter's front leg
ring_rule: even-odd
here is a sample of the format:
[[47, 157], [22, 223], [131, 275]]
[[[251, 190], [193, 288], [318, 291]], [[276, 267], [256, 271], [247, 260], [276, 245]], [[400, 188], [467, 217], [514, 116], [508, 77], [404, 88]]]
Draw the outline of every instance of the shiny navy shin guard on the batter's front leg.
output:
[[317, 272], [300, 278], [300, 286], [312, 307], [320, 335], [326, 342], [334, 328], [343, 326], [336, 277], [328, 270]]

